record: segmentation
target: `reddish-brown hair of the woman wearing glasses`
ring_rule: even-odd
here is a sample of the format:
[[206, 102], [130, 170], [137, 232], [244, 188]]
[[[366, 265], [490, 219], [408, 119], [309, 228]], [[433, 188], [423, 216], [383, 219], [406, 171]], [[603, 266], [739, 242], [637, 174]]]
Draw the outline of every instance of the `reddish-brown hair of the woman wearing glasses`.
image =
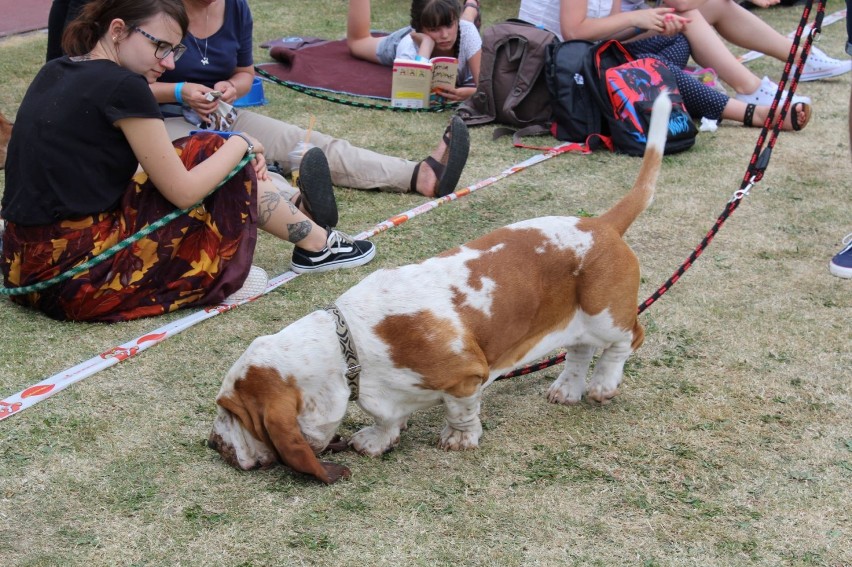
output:
[[189, 18], [181, 0], [94, 0], [62, 34], [62, 50], [68, 55], [85, 55], [107, 33], [109, 24], [124, 20], [128, 27], [138, 26], [158, 14], [178, 23], [181, 37], [189, 29]]

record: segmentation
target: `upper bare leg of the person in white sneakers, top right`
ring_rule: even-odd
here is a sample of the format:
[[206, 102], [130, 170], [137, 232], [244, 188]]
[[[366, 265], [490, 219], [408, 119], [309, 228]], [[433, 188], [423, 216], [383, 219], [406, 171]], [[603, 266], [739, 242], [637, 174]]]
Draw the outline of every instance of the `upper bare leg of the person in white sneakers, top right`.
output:
[[793, 40], [784, 37], [734, 0], [707, 0], [698, 11], [734, 45], [760, 51], [781, 61], [787, 60]]

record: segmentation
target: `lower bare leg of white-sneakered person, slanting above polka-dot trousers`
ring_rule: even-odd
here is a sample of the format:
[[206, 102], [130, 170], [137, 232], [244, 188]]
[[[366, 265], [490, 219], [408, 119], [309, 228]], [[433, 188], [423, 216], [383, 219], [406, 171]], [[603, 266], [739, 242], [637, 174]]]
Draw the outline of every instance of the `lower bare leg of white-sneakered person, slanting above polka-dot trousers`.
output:
[[702, 12], [688, 10], [683, 12], [683, 16], [692, 19], [684, 35], [689, 40], [692, 58], [699, 65], [712, 67], [719, 78], [737, 93], [750, 94], [760, 88], [760, 78], [737, 61], [716, 30], [704, 19]]

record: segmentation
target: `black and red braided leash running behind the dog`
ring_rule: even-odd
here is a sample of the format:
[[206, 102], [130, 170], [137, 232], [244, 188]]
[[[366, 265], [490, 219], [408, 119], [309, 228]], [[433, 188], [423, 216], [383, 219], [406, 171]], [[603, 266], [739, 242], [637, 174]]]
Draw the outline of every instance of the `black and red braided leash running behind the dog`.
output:
[[[713, 238], [719, 232], [719, 229], [722, 228], [722, 225], [726, 220], [733, 214], [737, 207], [740, 206], [743, 198], [749, 194], [751, 188], [754, 185], [763, 179], [763, 174], [766, 171], [766, 167], [769, 165], [769, 159], [772, 157], [772, 148], [775, 147], [775, 142], [778, 139], [778, 133], [781, 130], [781, 125], [784, 123], [784, 118], [787, 116], [787, 113], [790, 110], [790, 105], [793, 100], [793, 94], [796, 92], [796, 87], [799, 85], [799, 77], [802, 74], [802, 69], [804, 68], [805, 61], [808, 58], [808, 54], [811, 51], [811, 45], [814, 42], [814, 39], [819, 36], [819, 33], [822, 29], [822, 20], [825, 16], [825, 2], [826, 0], [819, 0], [817, 4], [817, 12], [816, 17], [814, 18], [813, 26], [811, 26], [810, 33], [808, 33], [807, 38], [805, 39], [805, 44], [802, 47], [802, 55], [799, 58], [799, 61], [796, 61], [796, 54], [799, 50], [799, 44], [801, 42], [802, 35], [804, 34], [805, 28], [808, 25], [808, 20], [810, 19], [811, 10], [813, 9], [814, 0], [807, 0], [807, 4], [805, 5], [804, 10], [802, 11], [802, 18], [799, 20], [799, 26], [796, 28], [796, 34], [793, 38], [793, 46], [790, 48], [790, 53], [787, 55], [787, 62], [784, 64], [784, 71], [781, 74], [781, 79], [778, 82], [778, 91], [775, 93], [775, 98], [772, 101], [772, 105], [769, 108], [769, 114], [766, 117], [766, 120], [763, 123], [763, 128], [760, 130], [760, 134], [757, 137], [757, 143], [754, 147], [754, 152], [752, 152], [751, 159], [749, 160], [748, 168], [746, 169], [746, 173], [743, 176], [742, 184], [740, 188], [734, 193], [731, 200], [725, 205], [724, 210], [721, 214], [716, 218], [716, 222], [713, 223], [713, 226], [710, 227], [710, 230], [701, 239], [701, 242], [692, 251], [689, 257], [675, 270], [674, 274], [666, 280], [666, 282], [661, 285], [657, 290], [652, 293], [648, 299], [643, 301], [639, 305], [639, 313], [644, 312], [648, 307], [653, 305], [660, 297], [663, 296], [671, 287], [680, 280], [681, 276], [686, 273], [686, 271], [692, 267], [695, 261], [699, 256], [704, 252], [704, 250], [710, 245]], [[849, 17], [847, 15], [847, 17]], [[793, 64], [796, 63], [796, 70], [793, 74], [793, 78], [790, 82], [790, 90], [787, 94], [787, 98], [781, 101], [781, 97], [784, 93], [784, 88], [787, 85], [787, 79], [790, 76], [790, 72], [793, 70]], [[781, 103], [781, 111], [778, 112], [778, 105]], [[777, 113], [777, 116], [776, 116]], [[535, 364], [531, 364], [529, 366], [524, 366], [523, 368], [518, 368], [498, 376], [496, 380], [504, 380], [506, 378], [514, 378], [516, 376], [525, 376], [527, 374], [532, 374], [533, 372], [538, 372], [539, 370], [544, 370], [545, 368], [549, 368], [551, 366], [555, 366], [562, 362], [565, 362], [565, 358], [567, 353], [560, 353], [552, 358], [548, 358], [546, 360], [542, 360]]]

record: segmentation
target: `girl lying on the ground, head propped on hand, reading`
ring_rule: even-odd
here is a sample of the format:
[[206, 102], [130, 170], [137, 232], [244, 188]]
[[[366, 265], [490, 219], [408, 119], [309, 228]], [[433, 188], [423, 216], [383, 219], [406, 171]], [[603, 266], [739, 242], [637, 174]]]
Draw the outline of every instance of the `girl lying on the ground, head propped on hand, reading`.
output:
[[370, 0], [349, 0], [346, 43], [353, 56], [388, 67], [394, 59], [427, 61], [453, 57], [458, 61], [456, 86], [443, 87], [445, 100], [463, 101], [476, 92], [482, 38], [471, 18], [478, 15], [472, 3], [465, 4], [464, 18], [457, 0], [413, 0], [411, 25], [384, 37], [370, 33]]

